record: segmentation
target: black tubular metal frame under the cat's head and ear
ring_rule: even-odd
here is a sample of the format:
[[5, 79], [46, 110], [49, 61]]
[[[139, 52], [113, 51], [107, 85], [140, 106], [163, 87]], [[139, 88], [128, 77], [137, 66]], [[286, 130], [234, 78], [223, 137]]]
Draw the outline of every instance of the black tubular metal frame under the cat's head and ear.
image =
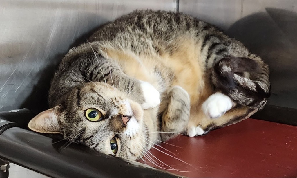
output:
[[[180, 177], [142, 163], [98, 153], [83, 145], [69, 145], [60, 135], [31, 132], [26, 127], [34, 116], [27, 109], [0, 112], [0, 159], [3, 160], [0, 165], [12, 162], [57, 178]], [[4, 177], [8, 177], [8, 170], [0, 172], [0, 178]]]

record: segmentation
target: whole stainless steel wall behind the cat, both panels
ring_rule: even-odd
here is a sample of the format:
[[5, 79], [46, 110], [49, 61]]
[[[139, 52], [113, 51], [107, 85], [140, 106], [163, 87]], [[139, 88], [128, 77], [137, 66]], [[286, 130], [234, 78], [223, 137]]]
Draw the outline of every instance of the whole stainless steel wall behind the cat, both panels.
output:
[[134, 9], [184, 12], [219, 26], [271, 68], [270, 105], [297, 108], [295, 0], [0, 0], [0, 110], [44, 109], [54, 66], [99, 25]]

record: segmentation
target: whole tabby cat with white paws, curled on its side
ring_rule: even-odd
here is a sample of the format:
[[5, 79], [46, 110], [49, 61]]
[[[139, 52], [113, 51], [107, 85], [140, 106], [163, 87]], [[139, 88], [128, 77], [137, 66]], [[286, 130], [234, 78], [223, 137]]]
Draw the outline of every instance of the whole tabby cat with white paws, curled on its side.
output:
[[50, 109], [28, 127], [137, 160], [179, 133], [249, 118], [269, 96], [268, 65], [241, 42], [190, 15], [136, 10], [69, 50]]

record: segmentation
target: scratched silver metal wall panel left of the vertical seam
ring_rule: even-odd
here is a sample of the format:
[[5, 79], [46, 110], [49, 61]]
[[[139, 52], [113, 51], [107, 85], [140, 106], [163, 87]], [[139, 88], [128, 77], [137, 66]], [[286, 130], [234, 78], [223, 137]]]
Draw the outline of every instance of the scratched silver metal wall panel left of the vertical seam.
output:
[[70, 46], [103, 23], [147, 8], [175, 11], [176, 1], [0, 0], [0, 110], [44, 109], [53, 68]]

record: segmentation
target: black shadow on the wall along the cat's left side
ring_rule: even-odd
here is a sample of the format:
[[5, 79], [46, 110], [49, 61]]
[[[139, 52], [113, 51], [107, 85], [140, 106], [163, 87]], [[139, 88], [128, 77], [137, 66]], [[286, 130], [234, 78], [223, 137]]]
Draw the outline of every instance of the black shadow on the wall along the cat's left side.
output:
[[[98, 29], [102, 28], [107, 23], [100, 25], [99, 27], [93, 28], [88, 33], [81, 35], [78, 39], [73, 42], [69, 49], [77, 47], [80, 44], [87, 42], [87, 39]], [[66, 53], [65, 53], [66, 54]], [[45, 68], [41, 69], [36, 74], [38, 79], [37, 84], [33, 87], [32, 92], [21, 104], [21, 108], [28, 108], [36, 112], [41, 112], [48, 109], [48, 90], [50, 88], [50, 81], [53, 78], [55, 70], [57, 70], [60, 61], [63, 59], [65, 54], [57, 54], [52, 58], [46, 59], [51, 61]]]

